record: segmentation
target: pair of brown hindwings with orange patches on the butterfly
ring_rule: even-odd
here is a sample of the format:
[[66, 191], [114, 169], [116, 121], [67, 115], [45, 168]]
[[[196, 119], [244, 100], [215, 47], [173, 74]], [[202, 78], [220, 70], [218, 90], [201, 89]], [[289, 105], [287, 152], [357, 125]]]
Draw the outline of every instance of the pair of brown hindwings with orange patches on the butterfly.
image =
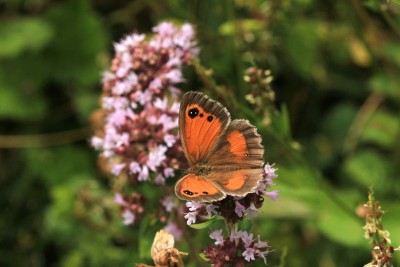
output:
[[212, 171], [207, 179], [227, 195], [245, 196], [262, 179], [264, 148], [256, 127], [233, 120], [207, 158]]

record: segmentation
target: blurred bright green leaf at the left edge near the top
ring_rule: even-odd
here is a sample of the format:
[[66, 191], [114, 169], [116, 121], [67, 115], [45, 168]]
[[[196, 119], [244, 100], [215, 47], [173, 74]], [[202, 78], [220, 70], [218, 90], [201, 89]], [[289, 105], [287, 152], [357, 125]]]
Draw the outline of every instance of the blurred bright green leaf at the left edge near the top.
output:
[[0, 58], [12, 58], [44, 48], [53, 37], [53, 29], [41, 18], [18, 18], [3, 21], [0, 36]]

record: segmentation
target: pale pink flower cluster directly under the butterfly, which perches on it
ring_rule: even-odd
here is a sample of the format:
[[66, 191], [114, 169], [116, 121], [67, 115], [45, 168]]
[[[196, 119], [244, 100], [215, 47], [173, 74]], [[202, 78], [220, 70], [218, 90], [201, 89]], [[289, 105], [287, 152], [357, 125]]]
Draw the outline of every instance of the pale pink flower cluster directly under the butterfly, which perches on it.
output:
[[227, 196], [223, 200], [212, 203], [186, 202], [186, 207], [189, 209], [189, 212], [185, 215], [187, 224], [196, 223], [197, 218], [203, 219], [213, 215], [224, 217], [228, 223], [237, 223], [244, 216], [247, 216], [247, 218], [256, 216], [258, 209], [264, 202], [263, 196], [267, 196], [272, 200], [278, 199], [277, 190], [267, 191], [273, 184], [273, 179], [278, 177], [275, 172], [276, 169], [273, 168], [273, 165], [266, 164], [264, 166], [263, 179], [259, 181], [258, 187], [253, 193], [249, 193], [245, 197]]

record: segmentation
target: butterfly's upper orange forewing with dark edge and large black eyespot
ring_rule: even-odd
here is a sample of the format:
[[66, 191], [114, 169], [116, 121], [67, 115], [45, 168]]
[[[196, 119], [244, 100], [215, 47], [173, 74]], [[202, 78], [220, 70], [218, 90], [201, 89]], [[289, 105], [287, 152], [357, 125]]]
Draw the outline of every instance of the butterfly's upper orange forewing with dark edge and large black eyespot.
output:
[[188, 92], [183, 96], [179, 133], [191, 165], [209, 155], [229, 123], [229, 112], [217, 101], [200, 92]]

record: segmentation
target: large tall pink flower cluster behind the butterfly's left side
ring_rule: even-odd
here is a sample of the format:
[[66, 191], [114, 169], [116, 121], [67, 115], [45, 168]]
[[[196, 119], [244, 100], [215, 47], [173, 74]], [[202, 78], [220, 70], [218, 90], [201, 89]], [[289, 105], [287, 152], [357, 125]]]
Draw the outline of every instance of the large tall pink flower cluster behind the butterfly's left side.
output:
[[183, 160], [177, 134], [181, 68], [198, 49], [190, 24], [163, 22], [154, 36], [131, 34], [115, 44], [111, 69], [103, 75], [105, 122], [91, 144], [110, 163], [109, 171], [133, 181], [164, 184]]

